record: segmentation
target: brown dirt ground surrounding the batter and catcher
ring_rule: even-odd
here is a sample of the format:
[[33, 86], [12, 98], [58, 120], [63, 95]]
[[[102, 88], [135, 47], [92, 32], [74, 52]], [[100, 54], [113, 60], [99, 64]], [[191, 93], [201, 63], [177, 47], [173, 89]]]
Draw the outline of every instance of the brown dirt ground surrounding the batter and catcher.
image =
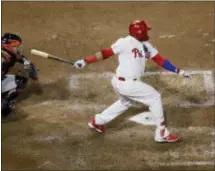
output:
[[[128, 120], [147, 110], [131, 108], [107, 125], [103, 135], [87, 121], [112, 104], [109, 78], [73, 79], [77, 74], [114, 72], [117, 58], [76, 70], [30, 54], [39, 49], [76, 60], [126, 36], [128, 24], [146, 19], [152, 43], [177, 66], [214, 68], [214, 2], [2, 2], [2, 32], [22, 36], [25, 54], [40, 69], [13, 115], [2, 120], [2, 168], [13, 170], [212, 170], [214, 105], [180, 107], [180, 101], [209, 99], [202, 75], [190, 83], [177, 76], [149, 76], [143, 81], [161, 92], [170, 130], [183, 140], [153, 141], [154, 126]], [[148, 62], [146, 70], [160, 70]], [[209, 84], [209, 83], [208, 83]]]

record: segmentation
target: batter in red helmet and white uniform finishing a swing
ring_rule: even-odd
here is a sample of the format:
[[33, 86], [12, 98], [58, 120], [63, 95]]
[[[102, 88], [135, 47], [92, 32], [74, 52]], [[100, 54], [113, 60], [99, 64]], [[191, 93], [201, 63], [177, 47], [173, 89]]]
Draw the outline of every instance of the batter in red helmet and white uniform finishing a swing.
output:
[[158, 50], [149, 42], [148, 31], [151, 28], [143, 20], [136, 20], [129, 25], [129, 35], [118, 39], [109, 48], [105, 48], [94, 56], [86, 57], [75, 62], [76, 68], [83, 68], [101, 59], [118, 55], [119, 65], [112, 78], [112, 86], [119, 99], [102, 113], [96, 114], [88, 122], [90, 128], [104, 132], [104, 125], [122, 114], [132, 106], [132, 101], [137, 101], [149, 106], [149, 110], [156, 118], [156, 142], [176, 142], [180, 138], [170, 133], [165, 125], [161, 95], [150, 85], [140, 79], [144, 74], [145, 64], [148, 59], [164, 69], [175, 72], [180, 76], [191, 79], [185, 71], [175, 67], [162, 57]]

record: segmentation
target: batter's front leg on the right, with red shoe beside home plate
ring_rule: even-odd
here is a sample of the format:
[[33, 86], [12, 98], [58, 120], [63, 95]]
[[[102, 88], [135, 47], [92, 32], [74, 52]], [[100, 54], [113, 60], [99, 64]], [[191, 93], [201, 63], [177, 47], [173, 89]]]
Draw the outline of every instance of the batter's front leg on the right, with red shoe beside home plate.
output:
[[179, 139], [179, 137], [168, 132], [164, 120], [161, 95], [152, 86], [136, 81], [132, 85], [131, 91], [127, 93], [127, 97], [149, 106], [149, 110], [156, 119], [155, 141], [175, 142]]

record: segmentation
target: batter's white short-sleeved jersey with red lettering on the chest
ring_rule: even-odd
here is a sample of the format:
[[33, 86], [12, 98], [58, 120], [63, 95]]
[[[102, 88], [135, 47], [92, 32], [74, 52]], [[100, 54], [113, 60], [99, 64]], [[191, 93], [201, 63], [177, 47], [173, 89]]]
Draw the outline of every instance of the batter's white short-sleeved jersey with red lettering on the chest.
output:
[[118, 39], [111, 48], [119, 58], [116, 75], [132, 79], [143, 76], [147, 59], [158, 53], [149, 42], [139, 42], [130, 35]]

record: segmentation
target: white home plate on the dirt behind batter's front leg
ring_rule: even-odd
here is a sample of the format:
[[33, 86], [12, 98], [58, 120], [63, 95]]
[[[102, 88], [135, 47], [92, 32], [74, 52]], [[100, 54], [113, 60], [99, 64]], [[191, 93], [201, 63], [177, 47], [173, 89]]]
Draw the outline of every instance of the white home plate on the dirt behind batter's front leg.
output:
[[129, 118], [129, 120], [137, 122], [139, 124], [143, 124], [143, 125], [155, 125], [155, 119], [151, 112], [139, 113], [139, 114]]

